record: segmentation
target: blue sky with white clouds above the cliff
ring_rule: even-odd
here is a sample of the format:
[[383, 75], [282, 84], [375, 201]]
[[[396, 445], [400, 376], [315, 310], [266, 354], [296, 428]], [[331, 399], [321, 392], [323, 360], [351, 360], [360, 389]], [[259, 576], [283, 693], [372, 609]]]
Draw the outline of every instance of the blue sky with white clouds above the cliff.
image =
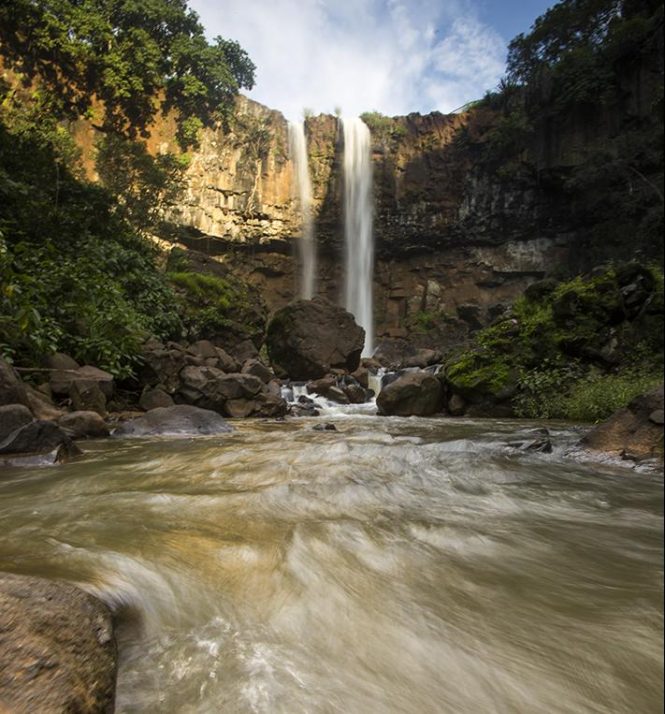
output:
[[554, 0], [190, 0], [256, 64], [250, 97], [305, 111], [451, 112], [494, 89], [508, 42]]

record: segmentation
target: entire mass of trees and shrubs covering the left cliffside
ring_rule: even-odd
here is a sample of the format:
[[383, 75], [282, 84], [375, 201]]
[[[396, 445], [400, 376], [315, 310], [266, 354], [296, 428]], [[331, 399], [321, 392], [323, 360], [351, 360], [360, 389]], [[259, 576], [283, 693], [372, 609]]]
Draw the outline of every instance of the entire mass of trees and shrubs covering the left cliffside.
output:
[[[174, 109], [191, 143], [254, 66], [235, 42], [208, 44], [183, 0], [2, 3], [0, 62], [0, 354], [33, 365], [59, 350], [128, 375], [148, 336], [191, 328], [149, 240], [186, 157], [137, 137]], [[80, 168], [81, 117], [101, 129], [101, 184]]]

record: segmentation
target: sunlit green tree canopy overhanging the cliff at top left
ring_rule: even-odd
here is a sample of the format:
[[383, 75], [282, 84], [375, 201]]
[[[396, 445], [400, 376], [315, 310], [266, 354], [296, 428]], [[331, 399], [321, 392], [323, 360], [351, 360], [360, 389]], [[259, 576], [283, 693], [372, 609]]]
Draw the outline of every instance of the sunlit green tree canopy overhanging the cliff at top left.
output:
[[177, 108], [184, 143], [254, 84], [246, 52], [208, 43], [185, 0], [0, 0], [0, 55], [55, 90], [63, 114], [97, 97], [106, 129], [145, 133], [159, 108]]

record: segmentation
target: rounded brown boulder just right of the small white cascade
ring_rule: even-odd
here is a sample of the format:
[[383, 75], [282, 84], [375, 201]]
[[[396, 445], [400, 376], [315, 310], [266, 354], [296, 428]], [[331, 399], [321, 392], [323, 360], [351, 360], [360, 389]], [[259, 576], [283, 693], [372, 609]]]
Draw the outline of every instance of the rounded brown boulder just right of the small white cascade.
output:
[[383, 415], [431, 416], [443, 409], [443, 387], [429, 372], [409, 372], [384, 387], [376, 405]]

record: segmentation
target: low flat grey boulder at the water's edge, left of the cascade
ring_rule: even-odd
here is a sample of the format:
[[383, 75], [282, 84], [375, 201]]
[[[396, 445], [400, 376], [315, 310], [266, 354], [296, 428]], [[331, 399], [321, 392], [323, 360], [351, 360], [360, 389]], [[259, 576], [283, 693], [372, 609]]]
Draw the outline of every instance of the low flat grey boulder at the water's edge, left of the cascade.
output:
[[209, 409], [187, 404], [152, 409], [121, 424], [114, 436], [199, 436], [232, 431], [226, 420]]

